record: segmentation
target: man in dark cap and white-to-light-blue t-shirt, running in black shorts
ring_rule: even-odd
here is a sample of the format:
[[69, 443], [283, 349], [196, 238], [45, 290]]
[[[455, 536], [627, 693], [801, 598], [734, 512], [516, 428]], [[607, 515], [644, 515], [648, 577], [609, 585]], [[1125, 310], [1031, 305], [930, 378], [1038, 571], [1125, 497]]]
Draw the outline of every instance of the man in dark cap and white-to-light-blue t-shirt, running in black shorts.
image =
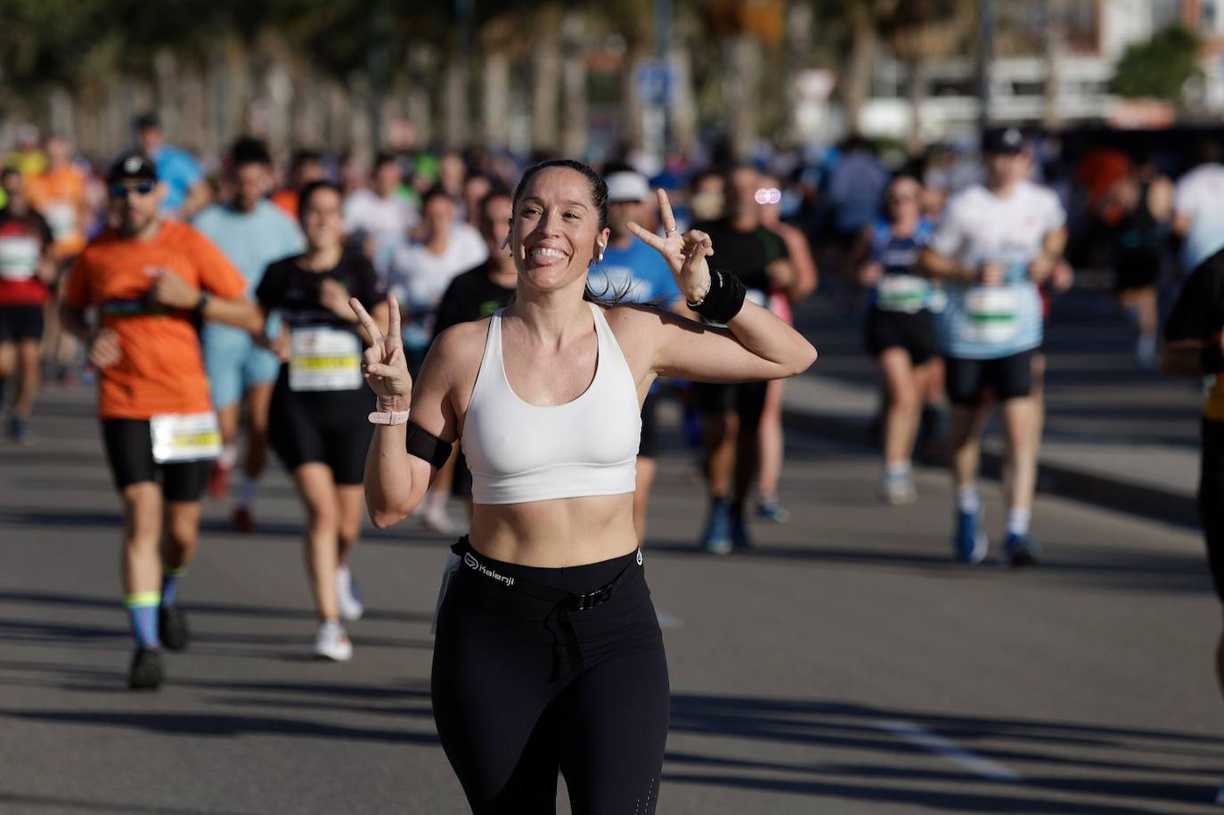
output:
[[1043, 339], [1037, 285], [1061, 261], [1066, 213], [1053, 191], [1027, 180], [1032, 159], [1018, 130], [987, 133], [983, 153], [985, 185], [949, 202], [919, 264], [947, 284], [938, 334], [952, 403], [956, 557], [967, 563], [985, 558], [976, 480], [982, 432], [998, 400], [1010, 472], [1004, 554], [1012, 565], [1027, 565], [1037, 559], [1028, 537], [1038, 445], [1032, 357]]

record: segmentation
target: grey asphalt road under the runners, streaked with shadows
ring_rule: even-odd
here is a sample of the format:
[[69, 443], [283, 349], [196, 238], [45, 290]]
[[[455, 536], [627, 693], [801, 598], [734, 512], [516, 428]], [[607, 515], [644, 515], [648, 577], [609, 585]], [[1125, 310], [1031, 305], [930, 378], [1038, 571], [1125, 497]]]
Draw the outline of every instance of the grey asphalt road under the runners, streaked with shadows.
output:
[[[160, 693], [133, 695], [88, 394], [51, 390], [34, 427], [35, 447], [0, 447], [0, 811], [466, 811], [430, 712], [447, 541], [411, 519], [371, 532], [356, 656], [316, 663], [301, 512], [277, 470], [258, 534], [207, 507], [181, 590], [195, 642]], [[660, 813], [1215, 811], [1220, 618], [1193, 532], [1042, 497], [1040, 568], [958, 567], [941, 474], [887, 508], [869, 452], [788, 442], [791, 523], [727, 558], [693, 546], [704, 501], [674, 439], [661, 459]]]

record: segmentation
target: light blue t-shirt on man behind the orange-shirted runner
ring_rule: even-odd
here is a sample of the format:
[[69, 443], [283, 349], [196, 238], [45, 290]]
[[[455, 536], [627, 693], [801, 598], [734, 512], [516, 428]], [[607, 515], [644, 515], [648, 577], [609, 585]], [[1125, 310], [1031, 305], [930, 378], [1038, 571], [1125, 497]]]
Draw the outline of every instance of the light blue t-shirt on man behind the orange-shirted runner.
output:
[[196, 215], [192, 225], [237, 267], [246, 278], [247, 294], [255, 292], [269, 263], [306, 250], [297, 224], [271, 201], [261, 201], [253, 212], [213, 204]]

